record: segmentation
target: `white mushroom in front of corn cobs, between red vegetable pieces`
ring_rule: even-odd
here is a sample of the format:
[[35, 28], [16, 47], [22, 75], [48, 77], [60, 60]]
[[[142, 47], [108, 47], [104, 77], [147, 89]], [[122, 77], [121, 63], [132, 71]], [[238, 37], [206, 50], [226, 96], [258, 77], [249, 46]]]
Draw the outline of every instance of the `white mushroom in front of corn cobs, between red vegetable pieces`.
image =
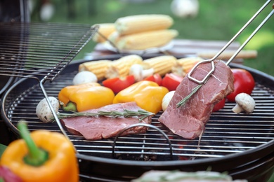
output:
[[143, 69], [141, 64], [133, 64], [129, 70], [129, 74], [133, 75], [136, 81], [141, 81], [143, 78], [151, 76], [154, 73], [154, 69]]

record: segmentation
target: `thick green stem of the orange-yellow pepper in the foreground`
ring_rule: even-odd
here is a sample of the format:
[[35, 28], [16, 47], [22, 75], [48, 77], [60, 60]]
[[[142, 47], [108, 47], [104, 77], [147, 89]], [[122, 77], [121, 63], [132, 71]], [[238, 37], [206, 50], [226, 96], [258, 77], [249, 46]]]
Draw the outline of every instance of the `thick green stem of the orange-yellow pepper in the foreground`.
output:
[[18, 123], [18, 130], [20, 131], [20, 136], [27, 144], [29, 153], [25, 155], [24, 162], [27, 165], [41, 166], [48, 160], [48, 153], [41, 148], [38, 148], [32, 137], [30, 137], [30, 132], [27, 130], [27, 124], [25, 122]]

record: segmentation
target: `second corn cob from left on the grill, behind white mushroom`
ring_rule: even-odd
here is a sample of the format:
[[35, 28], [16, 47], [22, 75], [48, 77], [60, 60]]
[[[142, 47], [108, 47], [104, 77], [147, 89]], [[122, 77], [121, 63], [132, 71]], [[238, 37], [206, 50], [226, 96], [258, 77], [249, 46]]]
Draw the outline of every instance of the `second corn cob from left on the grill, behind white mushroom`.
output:
[[129, 75], [133, 64], [142, 64], [143, 58], [138, 55], [127, 55], [112, 62], [105, 71], [106, 78], [123, 77]]

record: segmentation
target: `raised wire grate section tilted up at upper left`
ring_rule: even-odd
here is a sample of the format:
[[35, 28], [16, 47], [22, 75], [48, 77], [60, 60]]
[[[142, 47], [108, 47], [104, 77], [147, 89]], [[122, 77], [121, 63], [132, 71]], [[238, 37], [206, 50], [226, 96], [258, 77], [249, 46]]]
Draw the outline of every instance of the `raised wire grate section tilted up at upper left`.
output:
[[52, 81], [95, 31], [90, 25], [1, 22], [0, 75]]

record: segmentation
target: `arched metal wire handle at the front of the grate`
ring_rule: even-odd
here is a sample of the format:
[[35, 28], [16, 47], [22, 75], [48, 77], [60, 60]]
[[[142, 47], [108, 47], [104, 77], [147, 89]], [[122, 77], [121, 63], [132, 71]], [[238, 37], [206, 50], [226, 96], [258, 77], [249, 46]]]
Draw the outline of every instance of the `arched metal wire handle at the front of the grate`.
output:
[[145, 123], [137, 123], [134, 125], [130, 125], [129, 127], [125, 127], [124, 130], [121, 130], [115, 137], [114, 141], [113, 141], [113, 147], [112, 147], [112, 158], [115, 158], [115, 146], [116, 146], [116, 141], [117, 139], [121, 136], [122, 133], [124, 133], [126, 130], [129, 130], [132, 127], [151, 127], [152, 129], [157, 130], [159, 133], [161, 133], [164, 138], [167, 139], [168, 143], [169, 143], [169, 153], [170, 153], [170, 158], [171, 160], [173, 160], [173, 149], [172, 149], [172, 144], [171, 141], [169, 140], [169, 137], [167, 136], [167, 134], [165, 134], [162, 130], [160, 130], [158, 127], [155, 127], [154, 125], [149, 125], [149, 124], [145, 124]]

